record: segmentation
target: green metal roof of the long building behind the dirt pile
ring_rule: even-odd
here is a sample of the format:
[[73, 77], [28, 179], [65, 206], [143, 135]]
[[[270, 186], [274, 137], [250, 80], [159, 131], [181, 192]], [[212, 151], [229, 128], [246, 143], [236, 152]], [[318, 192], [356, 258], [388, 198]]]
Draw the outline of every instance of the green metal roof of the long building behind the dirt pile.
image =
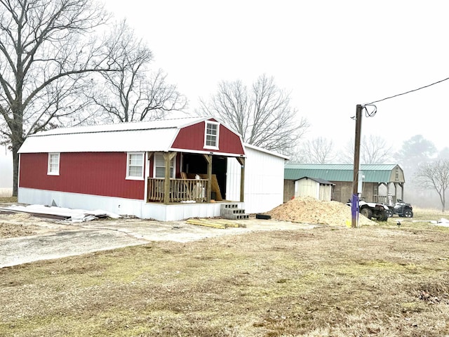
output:
[[[396, 169], [399, 178], [396, 179]], [[361, 171], [366, 183], [404, 183], [403, 171], [398, 164], [362, 164]], [[349, 181], [354, 178], [352, 164], [296, 164], [287, 163], [284, 168], [284, 179], [297, 180], [302, 177], [321, 178], [328, 181]], [[394, 177], [395, 179], [392, 179]]]

